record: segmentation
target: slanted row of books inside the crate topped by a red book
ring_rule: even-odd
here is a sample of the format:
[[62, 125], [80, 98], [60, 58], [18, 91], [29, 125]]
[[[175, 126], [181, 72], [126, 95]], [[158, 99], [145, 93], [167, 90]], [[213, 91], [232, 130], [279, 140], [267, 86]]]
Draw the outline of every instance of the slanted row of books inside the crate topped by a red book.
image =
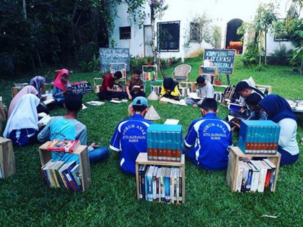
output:
[[75, 161], [65, 163], [52, 159], [41, 167], [45, 184], [50, 188], [82, 191], [81, 168]]

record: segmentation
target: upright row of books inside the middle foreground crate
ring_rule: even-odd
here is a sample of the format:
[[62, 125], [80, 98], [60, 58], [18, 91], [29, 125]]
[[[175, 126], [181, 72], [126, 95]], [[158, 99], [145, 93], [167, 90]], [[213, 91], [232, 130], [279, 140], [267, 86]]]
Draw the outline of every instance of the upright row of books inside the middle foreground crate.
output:
[[182, 169], [139, 165], [139, 199], [182, 203]]

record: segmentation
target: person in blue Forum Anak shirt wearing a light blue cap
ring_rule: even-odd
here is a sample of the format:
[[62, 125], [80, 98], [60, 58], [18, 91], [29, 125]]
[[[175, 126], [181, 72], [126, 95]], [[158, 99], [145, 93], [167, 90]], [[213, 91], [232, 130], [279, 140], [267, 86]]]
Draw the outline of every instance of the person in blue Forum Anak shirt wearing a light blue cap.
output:
[[136, 97], [132, 102], [132, 117], [118, 123], [109, 148], [120, 154], [119, 164], [126, 174], [135, 175], [135, 163], [140, 152], [147, 150], [146, 131], [150, 124], [144, 116], [148, 111], [145, 97]]

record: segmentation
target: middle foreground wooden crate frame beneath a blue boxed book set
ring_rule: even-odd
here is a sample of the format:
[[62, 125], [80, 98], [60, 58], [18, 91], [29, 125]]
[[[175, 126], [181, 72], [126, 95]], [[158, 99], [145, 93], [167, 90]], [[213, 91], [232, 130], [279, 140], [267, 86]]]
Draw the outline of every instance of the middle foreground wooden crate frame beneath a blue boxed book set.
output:
[[139, 153], [136, 159], [136, 185], [137, 185], [137, 199], [139, 196], [139, 165], [151, 165], [151, 166], [177, 166], [181, 167], [182, 172], [182, 203], [185, 203], [185, 155], [182, 154], [181, 162], [166, 162], [166, 161], [151, 161], [147, 159], [147, 153]]

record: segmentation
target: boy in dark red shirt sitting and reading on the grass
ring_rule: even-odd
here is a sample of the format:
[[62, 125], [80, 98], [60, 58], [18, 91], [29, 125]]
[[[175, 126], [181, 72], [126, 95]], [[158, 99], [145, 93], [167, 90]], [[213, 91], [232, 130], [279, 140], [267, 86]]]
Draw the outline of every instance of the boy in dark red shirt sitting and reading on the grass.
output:
[[118, 90], [113, 89], [115, 80], [120, 79], [121, 77], [122, 73], [120, 71], [117, 71], [114, 74], [106, 75], [100, 87], [98, 97], [101, 100], [112, 100], [112, 98], [124, 98], [125, 92], [122, 92], [121, 88], [119, 88]]

